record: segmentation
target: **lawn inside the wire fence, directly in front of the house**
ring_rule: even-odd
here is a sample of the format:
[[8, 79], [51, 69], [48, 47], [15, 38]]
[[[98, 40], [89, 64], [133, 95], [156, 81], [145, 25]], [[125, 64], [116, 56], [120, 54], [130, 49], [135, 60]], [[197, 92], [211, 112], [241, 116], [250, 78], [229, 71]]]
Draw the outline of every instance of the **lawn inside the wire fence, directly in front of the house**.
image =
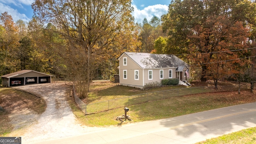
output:
[[[108, 85], [110, 86], [108, 87]], [[111, 82], [105, 82], [105, 84], [99, 82], [99, 86], [93, 86], [88, 98], [84, 101], [87, 104], [86, 114], [177, 96], [234, 90], [234, 86], [220, 86], [218, 90], [215, 90], [214, 87], [205, 86], [189, 88], [184, 86], [164, 86], [140, 90], [128, 86], [114, 86]], [[100, 86], [102, 86], [102, 89], [100, 89]]]

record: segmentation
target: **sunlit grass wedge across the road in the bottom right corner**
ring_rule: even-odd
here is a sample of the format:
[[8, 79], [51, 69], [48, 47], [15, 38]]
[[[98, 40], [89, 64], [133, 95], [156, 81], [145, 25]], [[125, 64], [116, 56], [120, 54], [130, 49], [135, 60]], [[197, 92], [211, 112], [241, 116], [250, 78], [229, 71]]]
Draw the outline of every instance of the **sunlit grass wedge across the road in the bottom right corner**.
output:
[[256, 144], [256, 127], [225, 134], [196, 144]]

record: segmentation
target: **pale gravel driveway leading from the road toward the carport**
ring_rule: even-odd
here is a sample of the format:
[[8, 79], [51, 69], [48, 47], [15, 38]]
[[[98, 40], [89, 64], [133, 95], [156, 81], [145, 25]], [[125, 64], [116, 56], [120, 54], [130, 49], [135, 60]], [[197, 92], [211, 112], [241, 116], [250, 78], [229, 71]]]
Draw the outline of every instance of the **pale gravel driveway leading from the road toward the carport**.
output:
[[[64, 83], [46, 83], [18, 86], [16, 89], [24, 90], [44, 98], [47, 103], [46, 111], [39, 116], [32, 113], [26, 114], [24, 118], [36, 118], [32, 125], [23, 133], [22, 143], [31, 144], [38, 140], [50, 140], [64, 138], [103, 130], [106, 128], [81, 126], [76, 122], [76, 116], [66, 102], [66, 96], [69, 95], [70, 87]], [[15, 123], [18, 118], [12, 119]], [[17, 122], [16, 122], [17, 123]]]

